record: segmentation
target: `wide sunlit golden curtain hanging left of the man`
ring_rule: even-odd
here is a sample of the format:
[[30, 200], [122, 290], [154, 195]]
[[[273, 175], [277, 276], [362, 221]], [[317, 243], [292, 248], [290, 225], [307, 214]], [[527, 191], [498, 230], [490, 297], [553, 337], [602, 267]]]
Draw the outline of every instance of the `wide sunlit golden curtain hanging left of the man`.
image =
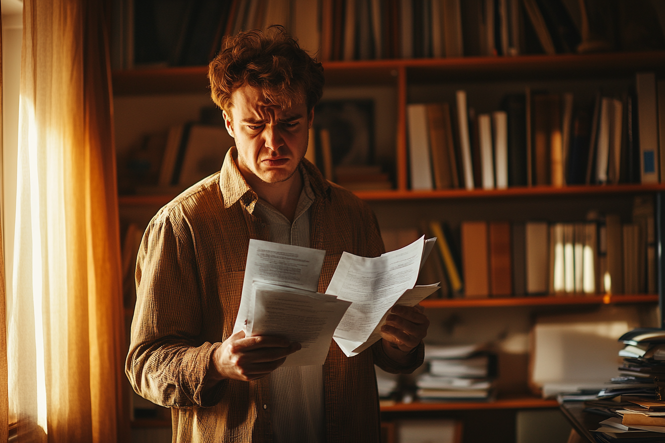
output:
[[125, 440], [101, 0], [24, 0], [9, 408], [19, 442]]

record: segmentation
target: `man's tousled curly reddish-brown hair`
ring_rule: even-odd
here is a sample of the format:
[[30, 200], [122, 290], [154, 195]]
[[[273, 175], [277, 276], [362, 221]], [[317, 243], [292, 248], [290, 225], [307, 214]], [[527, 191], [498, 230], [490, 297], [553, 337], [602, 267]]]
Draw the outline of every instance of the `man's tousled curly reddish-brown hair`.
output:
[[323, 66], [281, 25], [227, 37], [208, 66], [208, 78], [213, 102], [226, 112], [233, 91], [245, 85], [282, 108], [300, 103], [304, 92], [308, 112], [323, 94]]

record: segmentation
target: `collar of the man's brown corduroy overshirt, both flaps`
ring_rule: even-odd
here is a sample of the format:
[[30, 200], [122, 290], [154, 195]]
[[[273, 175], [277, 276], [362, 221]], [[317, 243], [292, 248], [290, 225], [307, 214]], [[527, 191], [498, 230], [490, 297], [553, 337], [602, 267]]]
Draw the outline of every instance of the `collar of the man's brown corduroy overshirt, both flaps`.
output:
[[[224, 199], [224, 207], [229, 208], [239, 200], [247, 208], [250, 213], [254, 210], [254, 205], [258, 200], [257, 194], [245, 181], [245, 177], [240, 173], [235, 158], [237, 157], [237, 150], [235, 146], [231, 147], [224, 158], [224, 163], [221, 165], [221, 172], [219, 173], [219, 189]], [[303, 159], [298, 165], [303, 177], [306, 177], [303, 182], [309, 181], [309, 187], [314, 193], [315, 198], [323, 197], [330, 199], [331, 185], [323, 178], [319, 169], [307, 159]]]

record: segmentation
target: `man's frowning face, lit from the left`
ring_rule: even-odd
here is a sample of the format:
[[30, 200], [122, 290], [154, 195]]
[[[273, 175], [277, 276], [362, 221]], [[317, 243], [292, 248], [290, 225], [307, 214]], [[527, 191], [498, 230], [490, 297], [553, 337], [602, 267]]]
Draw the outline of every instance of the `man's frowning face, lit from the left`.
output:
[[224, 112], [226, 129], [235, 138], [238, 169], [251, 185], [252, 176], [265, 183], [279, 183], [293, 176], [307, 151], [314, 111], [307, 112], [305, 96], [300, 104], [280, 108], [269, 104], [263, 93], [243, 86], [231, 96], [233, 106]]

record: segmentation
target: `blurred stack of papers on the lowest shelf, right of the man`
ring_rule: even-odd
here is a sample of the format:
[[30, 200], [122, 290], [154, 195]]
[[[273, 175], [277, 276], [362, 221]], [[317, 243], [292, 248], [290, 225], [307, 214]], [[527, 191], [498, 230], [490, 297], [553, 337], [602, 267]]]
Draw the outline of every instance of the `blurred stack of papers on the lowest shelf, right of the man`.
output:
[[422, 401], [488, 400], [496, 361], [478, 345], [425, 347], [429, 371], [418, 376], [416, 395]]

